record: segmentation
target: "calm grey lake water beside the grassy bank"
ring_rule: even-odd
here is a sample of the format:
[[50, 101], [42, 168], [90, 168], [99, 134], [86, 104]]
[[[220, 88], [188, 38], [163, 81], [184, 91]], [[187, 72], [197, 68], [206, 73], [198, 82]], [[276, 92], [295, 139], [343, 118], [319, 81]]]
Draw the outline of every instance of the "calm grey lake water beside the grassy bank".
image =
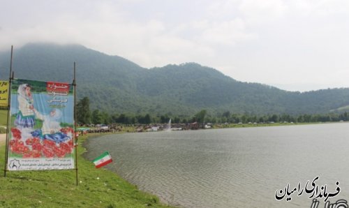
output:
[[330, 202], [349, 201], [348, 147], [341, 123], [105, 135], [89, 140], [86, 157], [110, 151], [107, 168], [171, 205], [310, 208], [309, 194], [287, 202], [275, 193], [318, 176], [329, 193], [339, 181]]

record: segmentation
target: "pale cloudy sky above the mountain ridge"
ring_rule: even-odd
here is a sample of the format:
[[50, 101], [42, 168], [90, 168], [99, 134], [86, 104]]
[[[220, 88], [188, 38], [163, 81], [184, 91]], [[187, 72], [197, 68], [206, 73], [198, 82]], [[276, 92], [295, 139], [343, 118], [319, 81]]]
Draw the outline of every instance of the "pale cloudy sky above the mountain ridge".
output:
[[80, 44], [288, 91], [349, 87], [348, 0], [0, 0], [0, 50]]

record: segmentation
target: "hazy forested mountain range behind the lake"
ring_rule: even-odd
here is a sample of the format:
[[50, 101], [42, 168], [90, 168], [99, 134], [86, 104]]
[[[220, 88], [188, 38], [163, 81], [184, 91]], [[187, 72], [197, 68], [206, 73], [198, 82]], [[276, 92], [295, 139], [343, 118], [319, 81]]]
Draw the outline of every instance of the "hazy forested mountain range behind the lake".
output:
[[[283, 91], [194, 63], [147, 69], [81, 45], [25, 45], [14, 50], [13, 71], [21, 79], [72, 82], [74, 61], [77, 97], [88, 96], [92, 109], [110, 113], [313, 114], [349, 105], [349, 89]], [[0, 52], [1, 80], [8, 79], [9, 66], [10, 52]]]

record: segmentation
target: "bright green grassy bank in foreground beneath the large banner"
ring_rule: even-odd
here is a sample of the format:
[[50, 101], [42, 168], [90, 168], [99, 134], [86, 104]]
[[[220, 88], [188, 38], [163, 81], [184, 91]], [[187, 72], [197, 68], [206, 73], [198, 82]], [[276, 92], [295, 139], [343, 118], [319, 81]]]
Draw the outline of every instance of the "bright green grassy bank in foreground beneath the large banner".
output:
[[139, 191], [104, 168], [96, 169], [82, 158], [79, 138], [78, 186], [75, 170], [6, 172], [3, 177], [5, 145], [0, 147], [0, 207], [168, 207], [156, 196]]

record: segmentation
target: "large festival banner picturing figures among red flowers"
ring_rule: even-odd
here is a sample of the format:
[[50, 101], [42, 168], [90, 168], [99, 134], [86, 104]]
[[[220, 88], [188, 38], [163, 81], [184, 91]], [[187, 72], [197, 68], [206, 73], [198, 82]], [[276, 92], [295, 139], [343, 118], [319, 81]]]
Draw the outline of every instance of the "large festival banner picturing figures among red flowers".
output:
[[13, 80], [8, 170], [75, 168], [73, 85]]

